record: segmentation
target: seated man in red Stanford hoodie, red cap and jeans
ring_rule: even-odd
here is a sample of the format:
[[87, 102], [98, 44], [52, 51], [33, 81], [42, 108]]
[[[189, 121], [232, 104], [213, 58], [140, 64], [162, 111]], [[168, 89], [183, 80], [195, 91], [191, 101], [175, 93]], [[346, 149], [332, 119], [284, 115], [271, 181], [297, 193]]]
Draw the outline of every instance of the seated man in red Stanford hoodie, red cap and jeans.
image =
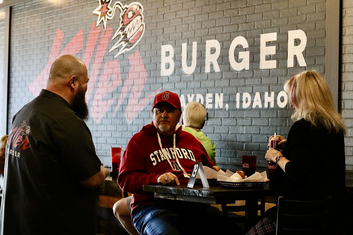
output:
[[132, 193], [132, 223], [140, 234], [217, 233], [234, 231], [220, 211], [204, 203], [157, 199], [143, 185], [186, 185], [195, 162], [213, 167], [206, 150], [191, 134], [181, 131], [180, 99], [170, 91], [156, 95], [152, 123], [126, 146], [118, 184]]

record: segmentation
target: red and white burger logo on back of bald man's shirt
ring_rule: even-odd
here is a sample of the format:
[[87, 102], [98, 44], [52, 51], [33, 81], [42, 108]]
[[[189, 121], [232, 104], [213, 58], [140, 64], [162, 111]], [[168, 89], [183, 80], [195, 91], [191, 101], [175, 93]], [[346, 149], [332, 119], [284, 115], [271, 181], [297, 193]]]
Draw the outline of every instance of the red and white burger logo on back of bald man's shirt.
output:
[[[6, 153], [15, 157], [20, 157], [18, 150], [25, 150], [30, 148], [28, 134], [31, 128], [26, 124], [26, 120], [23, 120], [20, 126], [12, 126], [11, 131], [8, 135], [6, 146]], [[12, 146], [12, 148], [11, 148]], [[20, 148], [20, 149], [17, 149]]]

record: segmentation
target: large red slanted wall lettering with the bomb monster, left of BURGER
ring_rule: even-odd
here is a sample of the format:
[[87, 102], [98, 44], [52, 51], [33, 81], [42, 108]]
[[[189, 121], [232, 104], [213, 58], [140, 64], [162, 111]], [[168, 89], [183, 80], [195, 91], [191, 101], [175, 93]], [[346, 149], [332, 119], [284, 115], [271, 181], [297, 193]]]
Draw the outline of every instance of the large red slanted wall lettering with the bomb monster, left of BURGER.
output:
[[[131, 123], [161, 90], [159, 87], [146, 96], [142, 92], [147, 73], [139, 50], [134, 50], [145, 30], [142, 4], [132, 2], [129, 5], [123, 5], [119, 1], [113, 6], [111, 4], [112, 0], [98, 0], [98, 7], [93, 11], [98, 15], [98, 19], [92, 24], [86, 42], [83, 41], [84, 29], [81, 29], [69, 43], [63, 45], [65, 33], [57, 29], [47, 66], [29, 86], [34, 97], [46, 87], [50, 66], [57, 57], [65, 54], [77, 55], [82, 50], [84, 53], [81, 60], [88, 66], [90, 77], [86, 101], [90, 106], [90, 115], [96, 123], [100, 122], [110, 107], [114, 115], [124, 100], [127, 100], [124, 115], [127, 122]], [[108, 21], [114, 17], [119, 17], [119, 24], [109, 25]], [[108, 48], [111, 41], [114, 45]], [[116, 58], [126, 52], [131, 52], [128, 56], [130, 69], [123, 80], [119, 60], [107, 61], [105, 57], [114, 54]], [[90, 63], [92, 60], [93, 63]]]

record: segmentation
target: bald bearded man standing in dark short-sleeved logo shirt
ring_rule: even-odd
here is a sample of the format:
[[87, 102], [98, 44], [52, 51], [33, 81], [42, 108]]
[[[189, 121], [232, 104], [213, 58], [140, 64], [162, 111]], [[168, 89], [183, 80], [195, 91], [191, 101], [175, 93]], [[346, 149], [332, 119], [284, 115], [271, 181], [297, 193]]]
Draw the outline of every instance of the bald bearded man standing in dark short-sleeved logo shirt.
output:
[[14, 115], [0, 234], [96, 234], [96, 188], [108, 170], [84, 122], [88, 81], [81, 60], [60, 56], [47, 88]]

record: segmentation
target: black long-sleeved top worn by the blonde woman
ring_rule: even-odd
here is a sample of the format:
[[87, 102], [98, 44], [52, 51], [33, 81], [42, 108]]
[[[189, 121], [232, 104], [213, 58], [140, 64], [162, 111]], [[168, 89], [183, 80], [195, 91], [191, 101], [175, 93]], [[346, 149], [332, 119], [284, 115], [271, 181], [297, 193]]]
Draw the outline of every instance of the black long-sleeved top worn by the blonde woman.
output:
[[330, 194], [339, 201], [345, 192], [345, 143], [341, 132], [315, 128], [304, 119], [289, 130], [282, 154], [290, 160], [284, 173], [277, 167], [275, 187], [286, 198], [315, 200]]

